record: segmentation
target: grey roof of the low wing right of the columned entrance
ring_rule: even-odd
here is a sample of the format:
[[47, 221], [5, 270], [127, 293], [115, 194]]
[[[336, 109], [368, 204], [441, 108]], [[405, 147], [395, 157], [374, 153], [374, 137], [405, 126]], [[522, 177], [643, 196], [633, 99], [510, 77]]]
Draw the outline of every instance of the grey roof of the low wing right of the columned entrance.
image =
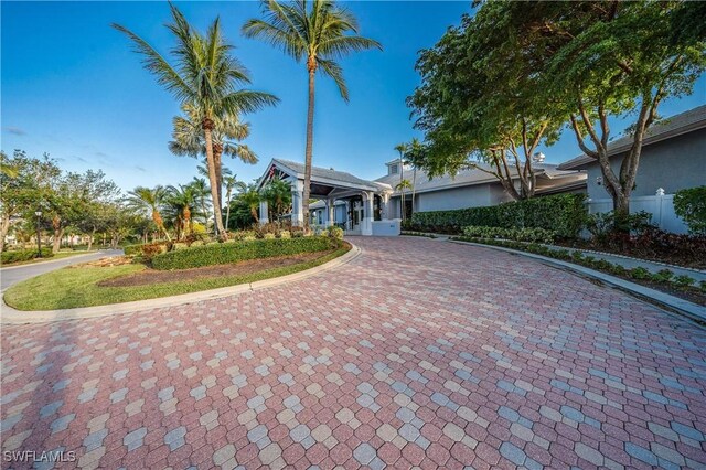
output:
[[[485, 163], [481, 163], [479, 165], [485, 169], [490, 169], [490, 165]], [[545, 180], [553, 180], [555, 178], [564, 178], [577, 174], [575, 171], [558, 170], [555, 164], [548, 163], [535, 163], [534, 169], [537, 178]], [[511, 169], [511, 172], [512, 174], [516, 174], [516, 170], [514, 168]], [[409, 182], [414, 184], [416, 193], [498, 182], [498, 179], [495, 177], [478, 169], [459, 171], [456, 177], [445, 174], [442, 177], [434, 177], [432, 179], [429, 179], [429, 175], [425, 171], [418, 169], [416, 171], [416, 174], [414, 170], [405, 171], [403, 178], [405, 180], [409, 180]], [[415, 181], [411, 181], [413, 178], [415, 179]], [[395, 188], [399, 183], [399, 179], [400, 174], [396, 173], [386, 174], [385, 177], [378, 178], [375, 181], [387, 183], [391, 186]], [[398, 193], [399, 191], [395, 191], [395, 194]]]

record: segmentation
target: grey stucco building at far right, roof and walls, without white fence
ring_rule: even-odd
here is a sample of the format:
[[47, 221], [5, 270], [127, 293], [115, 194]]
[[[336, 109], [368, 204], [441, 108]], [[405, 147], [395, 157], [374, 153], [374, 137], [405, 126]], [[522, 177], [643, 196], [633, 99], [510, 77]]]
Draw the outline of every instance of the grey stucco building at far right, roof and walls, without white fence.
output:
[[[611, 167], [618, 173], [632, 138], [622, 137], [608, 146]], [[587, 175], [591, 200], [609, 197], [598, 162], [580, 154], [558, 165], [559, 170], [579, 170]], [[675, 115], [646, 132], [635, 178], [633, 197], [665, 194], [706, 184], [706, 105]]]

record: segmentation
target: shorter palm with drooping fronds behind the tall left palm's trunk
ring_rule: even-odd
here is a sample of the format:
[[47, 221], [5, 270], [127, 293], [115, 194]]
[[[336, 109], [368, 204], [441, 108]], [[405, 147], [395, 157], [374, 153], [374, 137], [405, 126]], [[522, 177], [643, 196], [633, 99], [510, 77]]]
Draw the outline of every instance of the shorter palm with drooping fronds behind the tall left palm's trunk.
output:
[[[174, 116], [172, 119], [174, 130], [172, 139], [169, 143], [169, 150], [179, 157], [199, 158], [206, 154], [206, 146], [204, 142], [203, 130], [201, 128], [202, 117], [201, 109], [186, 104], [182, 106], [183, 116]], [[239, 158], [243, 163], [255, 164], [258, 161], [257, 156], [249, 147], [240, 143], [250, 135], [250, 125], [240, 121], [239, 117], [234, 114], [227, 114], [213, 120], [213, 160], [216, 170], [218, 206], [223, 206], [223, 175], [225, 171], [221, 157], [226, 154], [231, 158]], [[208, 164], [204, 167], [208, 178]]]

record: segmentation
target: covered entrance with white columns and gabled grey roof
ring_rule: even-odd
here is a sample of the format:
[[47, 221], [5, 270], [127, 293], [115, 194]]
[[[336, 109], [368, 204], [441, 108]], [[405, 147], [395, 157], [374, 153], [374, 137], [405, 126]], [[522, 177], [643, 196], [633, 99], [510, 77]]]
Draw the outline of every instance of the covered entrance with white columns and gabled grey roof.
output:
[[[278, 178], [290, 183], [292, 191], [291, 222], [303, 225], [304, 165], [272, 159], [258, 180], [261, 190]], [[399, 235], [399, 221], [389, 220], [389, 184], [366, 181], [351, 173], [313, 167], [311, 169], [310, 224], [320, 227], [336, 225], [349, 235]], [[260, 223], [269, 221], [267, 202], [260, 203]]]

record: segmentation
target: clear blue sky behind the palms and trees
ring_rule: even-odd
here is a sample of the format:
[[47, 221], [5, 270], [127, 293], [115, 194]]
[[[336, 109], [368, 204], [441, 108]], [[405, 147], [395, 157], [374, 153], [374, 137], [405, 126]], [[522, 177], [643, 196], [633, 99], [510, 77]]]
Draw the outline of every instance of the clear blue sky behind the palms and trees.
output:
[[[277, 95], [275, 108], [249, 115], [246, 143], [260, 157], [256, 165], [225, 163], [245, 181], [257, 178], [270, 158], [303, 160], [307, 76], [302, 64], [278, 50], [240, 35], [242, 24], [259, 14], [254, 1], [178, 2], [189, 21], [203, 30], [221, 15], [235, 55], [248, 67], [253, 89]], [[314, 126], [315, 165], [377, 178], [394, 146], [411, 137], [405, 98], [419, 78], [417, 52], [432, 46], [458, 24], [470, 2], [376, 2], [346, 6], [360, 20], [362, 34], [379, 41], [370, 51], [342, 61], [351, 102], [345, 104], [332, 81], [318, 77]], [[121, 188], [175, 184], [196, 174], [196, 160], [167, 149], [176, 102], [140, 65], [128, 40], [110, 28], [122, 24], [159, 51], [172, 42], [163, 24], [163, 2], [7, 2], [2, 15], [2, 141], [6, 152], [49, 152], [72, 171], [103, 169]], [[661, 106], [671, 116], [706, 103], [706, 77], [691, 97]], [[621, 122], [613, 124], [621, 130]], [[580, 153], [573, 135], [543, 149], [548, 162]]]

